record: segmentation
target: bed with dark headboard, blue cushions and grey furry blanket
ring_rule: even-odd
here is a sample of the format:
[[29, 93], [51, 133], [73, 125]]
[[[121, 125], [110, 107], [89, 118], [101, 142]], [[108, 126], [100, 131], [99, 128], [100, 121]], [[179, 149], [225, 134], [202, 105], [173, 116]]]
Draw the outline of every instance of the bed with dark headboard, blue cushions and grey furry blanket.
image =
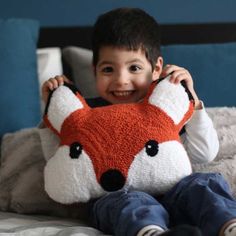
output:
[[[51, 76], [64, 73], [86, 98], [97, 97], [90, 66], [92, 27], [39, 28], [38, 22], [22, 19], [3, 23], [0, 35], [8, 33], [11, 40], [0, 36], [5, 45], [0, 55], [7, 55], [0, 62], [7, 78], [1, 78], [0, 89], [0, 234], [104, 235], [89, 224], [86, 204], [62, 205], [47, 196], [43, 168], [56, 147], [52, 134], [37, 126], [44, 110], [39, 87]], [[160, 29], [164, 61], [192, 73], [219, 135], [216, 159], [193, 169], [221, 172], [236, 196], [236, 24]], [[6, 51], [6, 45], [14, 50]]]

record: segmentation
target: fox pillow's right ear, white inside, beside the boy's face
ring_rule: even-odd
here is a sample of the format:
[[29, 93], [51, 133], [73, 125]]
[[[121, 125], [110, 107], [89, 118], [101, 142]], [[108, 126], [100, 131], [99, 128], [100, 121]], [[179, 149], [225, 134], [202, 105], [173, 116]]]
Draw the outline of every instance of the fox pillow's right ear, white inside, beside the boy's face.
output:
[[193, 109], [192, 95], [181, 84], [173, 84], [170, 76], [162, 79], [152, 90], [148, 102], [165, 111], [174, 123], [179, 124], [185, 114]]

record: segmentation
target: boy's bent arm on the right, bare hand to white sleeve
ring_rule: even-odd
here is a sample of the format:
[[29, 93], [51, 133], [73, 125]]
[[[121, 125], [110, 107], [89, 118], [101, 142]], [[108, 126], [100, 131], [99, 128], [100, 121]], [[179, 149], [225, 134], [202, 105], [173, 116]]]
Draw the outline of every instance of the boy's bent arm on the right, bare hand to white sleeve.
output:
[[185, 125], [186, 132], [181, 136], [192, 163], [212, 161], [218, 153], [219, 140], [212, 120], [194, 90], [191, 74], [183, 67], [166, 65], [162, 76], [168, 74], [171, 74], [172, 83], [185, 81], [195, 101], [193, 117]]

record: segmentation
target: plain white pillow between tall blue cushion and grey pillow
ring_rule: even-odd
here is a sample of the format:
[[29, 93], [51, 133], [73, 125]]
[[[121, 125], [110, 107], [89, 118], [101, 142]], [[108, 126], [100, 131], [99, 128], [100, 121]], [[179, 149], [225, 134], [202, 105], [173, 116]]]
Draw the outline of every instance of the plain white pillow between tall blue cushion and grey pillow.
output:
[[63, 73], [61, 49], [59, 47], [37, 49], [38, 80], [40, 88], [41, 112], [43, 114], [45, 104], [42, 100], [41, 87], [51, 77]]

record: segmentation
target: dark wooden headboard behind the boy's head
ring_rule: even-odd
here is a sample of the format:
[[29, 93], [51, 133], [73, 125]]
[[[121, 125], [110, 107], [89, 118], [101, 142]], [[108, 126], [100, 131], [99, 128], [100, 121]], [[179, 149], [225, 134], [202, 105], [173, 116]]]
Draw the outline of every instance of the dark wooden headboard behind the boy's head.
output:
[[[163, 24], [160, 25], [162, 45], [223, 43], [236, 41], [236, 23]], [[92, 26], [43, 27], [38, 47], [68, 45], [91, 48]]]

